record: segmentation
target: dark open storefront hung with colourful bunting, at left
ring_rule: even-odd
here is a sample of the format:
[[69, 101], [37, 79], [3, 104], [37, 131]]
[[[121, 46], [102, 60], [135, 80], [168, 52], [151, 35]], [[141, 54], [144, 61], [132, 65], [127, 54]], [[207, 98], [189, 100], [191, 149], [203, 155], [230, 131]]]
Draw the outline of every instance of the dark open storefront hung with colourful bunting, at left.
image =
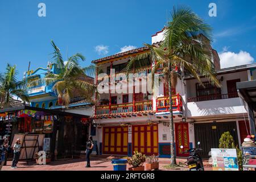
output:
[[14, 134], [44, 134], [52, 159], [79, 153], [88, 139], [89, 125], [88, 116], [59, 110], [31, 106], [0, 110], [2, 138], [9, 138], [11, 143]]

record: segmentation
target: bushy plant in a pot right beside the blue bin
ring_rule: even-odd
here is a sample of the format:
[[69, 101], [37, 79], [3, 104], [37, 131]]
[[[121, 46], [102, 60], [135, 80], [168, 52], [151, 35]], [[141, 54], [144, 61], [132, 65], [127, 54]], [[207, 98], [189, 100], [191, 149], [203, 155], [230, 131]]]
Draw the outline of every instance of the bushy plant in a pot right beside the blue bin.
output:
[[144, 171], [143, 163], [146, 162], [146, 156], [141, 152], [135, 151], [131, 158], [127, 158], [128, 164], [131, 166], [129, 171]]

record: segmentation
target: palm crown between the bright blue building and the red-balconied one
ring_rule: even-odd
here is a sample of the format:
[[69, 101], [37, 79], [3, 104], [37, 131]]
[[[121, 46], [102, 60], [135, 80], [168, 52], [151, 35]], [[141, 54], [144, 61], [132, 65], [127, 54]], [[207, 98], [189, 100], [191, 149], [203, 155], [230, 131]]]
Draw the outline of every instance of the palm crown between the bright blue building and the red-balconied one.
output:
[[35, 84], [38, 81], [46, 82], [46, 85], [53, 84], [53, 89], [57, 91], [58, 99], [63, 101], [63, 105], [67, 107], [74, 93], [81, 93], [85, 100], [92, 101], [95, 86], [84, 78], [88, 76], [86, 73], [93, 75], [93, 65], [82, 68], [79, 62], [84, 61], [85, 57], [81, 53], [76, 53], [68, 57], [67, 61], [64, 61], [60, 49], [55, 45], [53, 40], [51, 40], [51, 44], [54, 49], [52, 59], [57, 73], [48, 72], [44, 78], [31, 81], [30, 84]]

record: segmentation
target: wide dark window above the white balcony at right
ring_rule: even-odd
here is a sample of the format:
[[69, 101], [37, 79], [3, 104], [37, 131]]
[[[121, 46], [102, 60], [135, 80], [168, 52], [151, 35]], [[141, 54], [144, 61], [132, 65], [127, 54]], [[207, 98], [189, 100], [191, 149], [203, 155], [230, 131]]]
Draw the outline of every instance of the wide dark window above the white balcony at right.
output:
[[210, 84], [209, 82], [204, 82], [204, 86], [196, 84], [196, 97], [197, 101], [208, 101], [221, 99], [221, 89]]

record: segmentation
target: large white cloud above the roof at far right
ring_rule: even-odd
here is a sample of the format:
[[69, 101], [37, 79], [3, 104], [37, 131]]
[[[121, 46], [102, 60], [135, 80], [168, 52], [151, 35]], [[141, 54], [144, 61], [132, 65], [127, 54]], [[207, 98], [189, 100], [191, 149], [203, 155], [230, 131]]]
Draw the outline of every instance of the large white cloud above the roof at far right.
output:
[[227, 49], [227, 47], [224, 47], [223, 52], [219, 55], [221, 68], [236, 67], [238, 65], [251, 64], [254, 62], [254, 58], [251, 57], [249, 52], [240, 51], [235, 53], [227, 51]]

